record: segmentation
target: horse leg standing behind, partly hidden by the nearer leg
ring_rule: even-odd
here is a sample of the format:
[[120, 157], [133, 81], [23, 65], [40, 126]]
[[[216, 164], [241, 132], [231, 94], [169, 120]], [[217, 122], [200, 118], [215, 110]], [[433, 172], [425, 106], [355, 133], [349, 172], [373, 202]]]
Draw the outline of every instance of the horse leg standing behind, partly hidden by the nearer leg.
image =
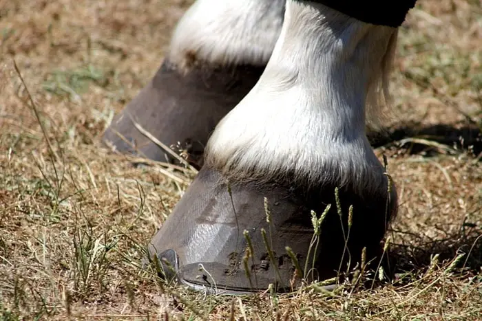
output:
[[123, 153], [171, 161], [134, 122], [200, 166], [208, 136], [258, 81], [279, 36], [284, 0], [198, 0], [179, 21], [154, 78], [103, 141]]

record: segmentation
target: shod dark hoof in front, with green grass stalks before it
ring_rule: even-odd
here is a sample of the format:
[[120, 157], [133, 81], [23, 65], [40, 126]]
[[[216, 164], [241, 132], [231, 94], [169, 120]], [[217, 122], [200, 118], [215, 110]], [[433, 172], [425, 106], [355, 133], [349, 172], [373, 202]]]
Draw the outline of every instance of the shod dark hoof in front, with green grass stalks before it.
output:
[[[341, 188], [337, 208], [334, 191], [335, 186], [307, 189], [280, 181], [230, 184], [203, 167], [149, 252], [169, 269], [163, 272], [168, 280], [211, 293], [244, 294], [270, 284], [293, 291], [300, 277], [333, 278], [359, 262], [364, 247], [368, 260], [379, 253], [396, 204], [386, 213], [386, 192], [361, 197]], [[312, 210], [319, 219], [328, 204], [315, 233]]]

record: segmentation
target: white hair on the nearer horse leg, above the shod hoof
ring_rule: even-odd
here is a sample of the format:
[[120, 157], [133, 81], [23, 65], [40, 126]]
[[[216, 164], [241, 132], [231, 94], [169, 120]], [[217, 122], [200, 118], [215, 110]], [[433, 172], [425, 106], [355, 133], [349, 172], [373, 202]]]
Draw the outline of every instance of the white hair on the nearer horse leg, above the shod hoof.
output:
[[366, 103], [387, 96], [396, 38], [394, 27], [288, 0], [264, 73], [216, 127], [205, 164], [235, 179], [294, 173], [314, 186], [386, 188], [366, 138]]

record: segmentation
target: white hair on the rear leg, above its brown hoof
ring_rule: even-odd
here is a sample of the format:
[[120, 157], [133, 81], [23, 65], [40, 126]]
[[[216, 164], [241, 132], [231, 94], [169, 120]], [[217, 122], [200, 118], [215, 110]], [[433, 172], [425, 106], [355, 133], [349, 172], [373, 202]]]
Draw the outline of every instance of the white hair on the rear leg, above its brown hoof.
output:
[[283, 22], [284, 0], [198, 0], [179, 21], [169, 60], [266, 65]]

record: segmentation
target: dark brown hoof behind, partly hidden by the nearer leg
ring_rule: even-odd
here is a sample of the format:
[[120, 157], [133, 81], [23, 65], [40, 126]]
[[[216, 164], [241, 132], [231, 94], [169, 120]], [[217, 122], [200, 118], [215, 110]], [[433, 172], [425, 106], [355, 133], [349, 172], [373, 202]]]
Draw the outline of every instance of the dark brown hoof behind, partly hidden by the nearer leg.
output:
[[165, 60], [138, 96], [114, 117], [103, 142], [121, 153], [172, 162], [173, 157], [142, 133], [144, 129], [200, 167], [209, 134], [255, 85], [263, 69], [194, 65], [181, 71]]

